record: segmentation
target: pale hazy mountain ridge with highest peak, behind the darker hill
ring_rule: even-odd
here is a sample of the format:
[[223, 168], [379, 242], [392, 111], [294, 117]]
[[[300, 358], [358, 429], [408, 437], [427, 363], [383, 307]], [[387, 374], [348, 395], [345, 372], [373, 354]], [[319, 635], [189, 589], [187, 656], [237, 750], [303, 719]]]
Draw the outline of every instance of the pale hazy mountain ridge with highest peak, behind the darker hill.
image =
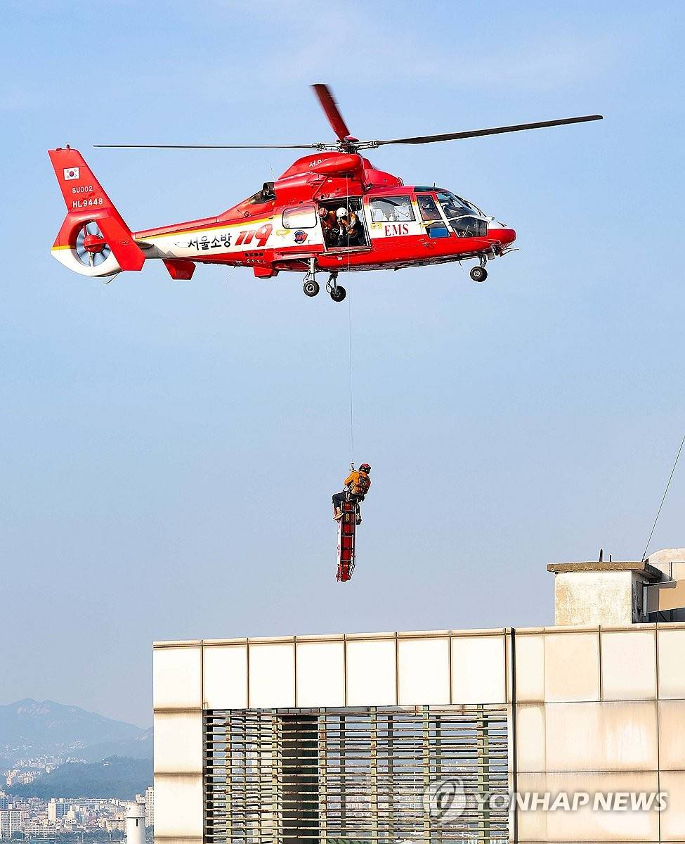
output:
[[[133, 724], [54, 701], [27, 698], [0, 706], [0, 757], [8, 760], [9, 764], [30, 756], [81, 755], [75, 751], [93, 745], [129, 743], [141, 739], [148, 732]], [[152, 754], [151, 745], [149, 738], [141, 740], [141, 747], [150, 748], [149, 755]], [[115, 747], [103, 748], [105, 751], [105, 755], [127, 753], [126, 748], [121, 753]], [[96, 757], [103, 758], [100, 750]]]

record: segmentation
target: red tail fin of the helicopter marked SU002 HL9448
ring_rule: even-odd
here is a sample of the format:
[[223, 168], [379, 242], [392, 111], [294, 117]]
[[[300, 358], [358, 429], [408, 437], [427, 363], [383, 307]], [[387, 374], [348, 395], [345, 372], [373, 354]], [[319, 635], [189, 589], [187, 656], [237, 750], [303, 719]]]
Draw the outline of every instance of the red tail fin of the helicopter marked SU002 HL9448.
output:
[[[111, 203], [92, 170], [85, 163], [78, 149], [48, 150], [62, 197], [67, 205], [67, 217], [57, 234], [53, 254], [67, 267], [84, 275], [112, 275], [120, 269], [138, 270], [143, 267], [145, 255], [133, 239], [131, 230], [121, 219], [121, 214]], [[105, 246], [111, 249], [115, 262], [102, 269], [85, 266], [76, 250], [78, 232], [84, 225], [95, 222], [100, 227]], [[60, 252], [69, 250], [69, 256]], [[106, 270], [106, 272], [105, 272]]]

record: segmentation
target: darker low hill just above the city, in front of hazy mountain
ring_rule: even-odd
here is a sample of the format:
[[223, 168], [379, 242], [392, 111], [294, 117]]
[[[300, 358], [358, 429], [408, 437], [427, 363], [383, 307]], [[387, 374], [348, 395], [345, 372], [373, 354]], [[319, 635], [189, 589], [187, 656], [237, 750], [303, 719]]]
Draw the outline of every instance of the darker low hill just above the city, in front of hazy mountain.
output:
[[68, 762], [25, 786], [7, 791], [17, 797], [94, 797], [132, 800], [152, 785], [152, 760], [111, 756], [100, 762]]

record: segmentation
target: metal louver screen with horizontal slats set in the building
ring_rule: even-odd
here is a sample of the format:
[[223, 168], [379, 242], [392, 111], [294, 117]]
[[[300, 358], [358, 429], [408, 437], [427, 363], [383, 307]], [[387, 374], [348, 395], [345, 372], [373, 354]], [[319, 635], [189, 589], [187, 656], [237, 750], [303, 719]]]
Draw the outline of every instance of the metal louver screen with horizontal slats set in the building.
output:
[[499, 844], [507, 792], [501, 706], [205, 713], [210, 844]]

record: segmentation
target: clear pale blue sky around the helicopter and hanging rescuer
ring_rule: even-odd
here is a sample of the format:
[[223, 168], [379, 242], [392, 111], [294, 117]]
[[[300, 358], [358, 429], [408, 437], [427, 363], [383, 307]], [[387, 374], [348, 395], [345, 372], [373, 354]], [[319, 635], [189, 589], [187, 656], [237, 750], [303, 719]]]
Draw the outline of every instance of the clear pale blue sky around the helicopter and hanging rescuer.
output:
[[[545, 565], [640, 559], [685, 427], [681, 4], [26, 3], [0, 32], [0, 702], [151, 722], [154, 639], [542, 625]], [[49, 254], [46, 149], [84, 153], [134, 229], [215, 214], [309, 143], [332, 85], [360, 138], [599, 112], [370, 157], [518, 231], [456, 266], [298, 275]], [[353, 582], [330, 495], [374, 467]], [[685, 544], [685, 467], [651, 549]]]

